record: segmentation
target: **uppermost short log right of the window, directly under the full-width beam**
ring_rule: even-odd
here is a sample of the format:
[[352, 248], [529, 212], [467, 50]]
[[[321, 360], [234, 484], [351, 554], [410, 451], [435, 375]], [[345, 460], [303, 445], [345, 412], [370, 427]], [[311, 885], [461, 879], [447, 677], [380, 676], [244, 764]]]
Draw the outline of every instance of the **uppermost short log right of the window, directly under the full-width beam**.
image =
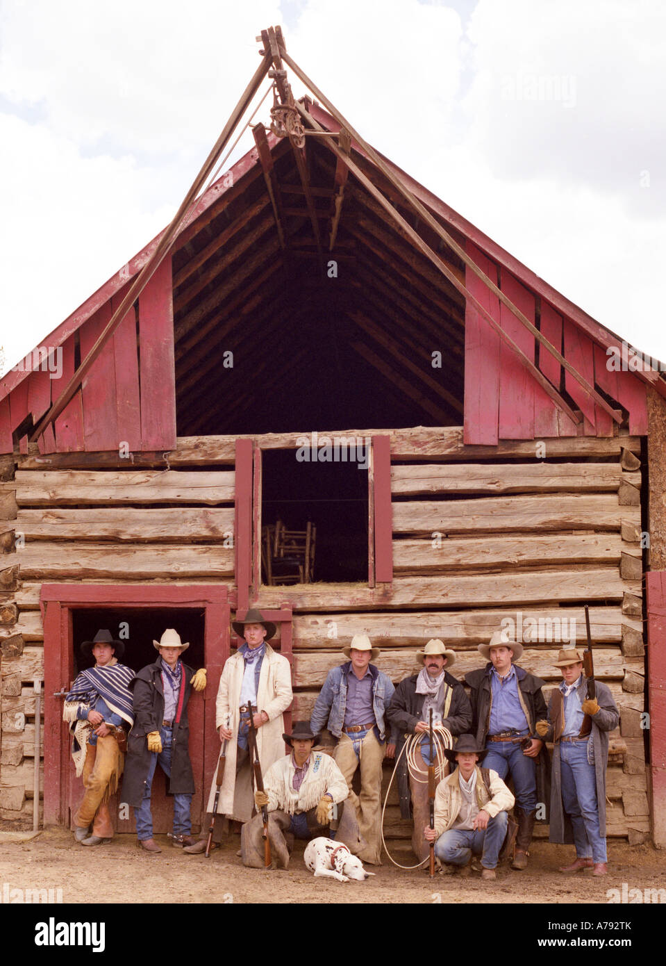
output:
[[[614, 463], [466, 463], [399, 465], [391, 469], [391, 492], [428, 493], [557, 493], [617, 491], [624, 478]], [[636, 475], [632, 482], [640, 480]]]

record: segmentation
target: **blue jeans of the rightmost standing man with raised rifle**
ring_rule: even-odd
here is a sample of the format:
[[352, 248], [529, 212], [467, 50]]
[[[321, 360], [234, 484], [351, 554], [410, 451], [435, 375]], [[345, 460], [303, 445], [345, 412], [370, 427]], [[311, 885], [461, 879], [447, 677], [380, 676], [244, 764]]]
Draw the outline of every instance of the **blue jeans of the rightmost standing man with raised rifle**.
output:
[[606, 862], [606, 839], [599, 835], [597, 774], [588, 764], [587, 741], [560, 742], [562, 804], [569, 815], [578, 859]]

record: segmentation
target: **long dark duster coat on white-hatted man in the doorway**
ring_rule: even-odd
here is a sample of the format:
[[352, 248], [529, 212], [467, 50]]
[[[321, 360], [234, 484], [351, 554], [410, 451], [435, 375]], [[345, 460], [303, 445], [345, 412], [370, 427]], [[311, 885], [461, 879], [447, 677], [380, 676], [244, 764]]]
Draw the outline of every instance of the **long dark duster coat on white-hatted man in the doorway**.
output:
[[[194, 777], [189, 758], [189, 725], [187, 722], [187, 702], [192, 693], [189, 683], [194, 674], [192, 668], [182, 665], [180, 687], [184, 688], [180, 722], [174, 725], [171, 753], [171, 778], [167, 782], [169, 795], [189, 795], [194, 793]], [[141, 805], [151, 764], [146, 735], [159, 731], [164, 720], [164, 688], [162, 685], [161, 658], [146, 668], [141, 668], [129, 682], [129, 690], [134, 695], [134, 727], [127, 737], [125, 757], [125, 776], [123, 778], [122, 800], [135, 809]]]

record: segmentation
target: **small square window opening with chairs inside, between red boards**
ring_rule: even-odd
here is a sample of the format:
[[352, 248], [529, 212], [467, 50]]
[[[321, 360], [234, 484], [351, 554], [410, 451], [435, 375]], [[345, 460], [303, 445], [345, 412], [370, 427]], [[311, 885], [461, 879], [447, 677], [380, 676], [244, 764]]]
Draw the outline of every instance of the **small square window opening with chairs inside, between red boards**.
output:
[[[264, 450], [262, 582], [368, 580], [370, 440], [338, 447]], [[310, 458], [312, 457], [312, 458]], [[342, 457], [342, 458], [341, 458]]]

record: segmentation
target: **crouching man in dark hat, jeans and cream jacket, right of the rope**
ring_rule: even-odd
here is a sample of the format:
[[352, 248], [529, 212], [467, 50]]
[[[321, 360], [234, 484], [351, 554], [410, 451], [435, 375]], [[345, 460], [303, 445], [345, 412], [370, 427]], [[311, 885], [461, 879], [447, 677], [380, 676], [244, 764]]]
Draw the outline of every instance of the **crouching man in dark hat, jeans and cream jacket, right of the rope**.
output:
[[457, 768], [437, 785], [434, 829], [427, 825], [424, 835], [435, 842], [441, 863], [462, 870], [473, 854], [481, 855], [482, 879], [494, 879], [514, 798], [497, 772], [479, 767], [486, 753], [471, 734], [460, 735], [456, 747], [445, 751]]

